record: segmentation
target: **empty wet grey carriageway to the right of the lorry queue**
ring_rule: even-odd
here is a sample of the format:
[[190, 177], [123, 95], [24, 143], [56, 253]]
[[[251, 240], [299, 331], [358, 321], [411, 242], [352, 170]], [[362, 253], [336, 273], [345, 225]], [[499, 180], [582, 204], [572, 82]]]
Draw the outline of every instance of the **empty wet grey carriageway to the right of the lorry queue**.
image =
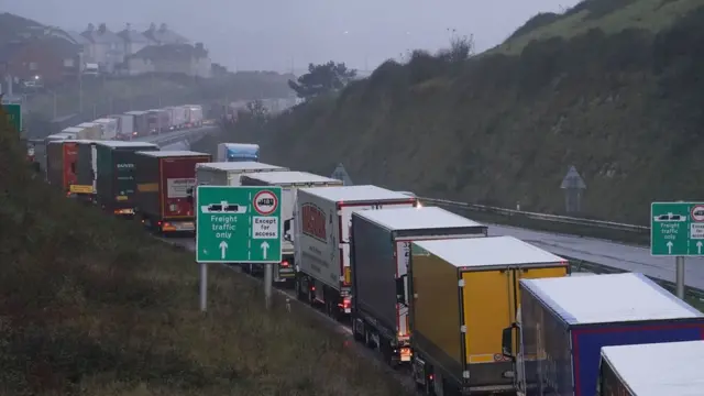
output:
[[[675, 282], [674, 257], [653, 257], [649, 248], [494, 224], [490, 226], [488, 233], [512, 235], [558, 255]], [[685, 284], [704, 289], [704, 258], [685, 258]]]

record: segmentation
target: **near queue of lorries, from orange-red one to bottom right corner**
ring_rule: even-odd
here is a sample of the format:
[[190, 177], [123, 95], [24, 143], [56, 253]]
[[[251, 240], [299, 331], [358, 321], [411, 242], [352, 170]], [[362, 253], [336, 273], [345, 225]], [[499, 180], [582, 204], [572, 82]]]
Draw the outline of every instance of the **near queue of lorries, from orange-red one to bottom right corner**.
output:
[[426, 395], [704, 395], [675, 363], [662, 370], [676, 375], [638, 374], [704, 360], [704, 315], [640, 274], [574, 276], [568, 260], [408, 193], [148, 143], [50, 145], [52, 184], [160, 233], [196, 231], [198, 185], [282, 187], [273, 280], [349, 322]]

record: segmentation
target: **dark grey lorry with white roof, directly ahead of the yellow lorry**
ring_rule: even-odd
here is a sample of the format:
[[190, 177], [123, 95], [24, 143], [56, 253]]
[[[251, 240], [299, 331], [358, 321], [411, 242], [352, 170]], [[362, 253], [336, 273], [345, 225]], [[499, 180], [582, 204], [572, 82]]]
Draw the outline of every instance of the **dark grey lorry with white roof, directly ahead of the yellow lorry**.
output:
[[414, 241], [486, 237], [488, 227], [437, 207], [352, 213], [352, 333], [392, 366], [410, 363], [408, 262]]

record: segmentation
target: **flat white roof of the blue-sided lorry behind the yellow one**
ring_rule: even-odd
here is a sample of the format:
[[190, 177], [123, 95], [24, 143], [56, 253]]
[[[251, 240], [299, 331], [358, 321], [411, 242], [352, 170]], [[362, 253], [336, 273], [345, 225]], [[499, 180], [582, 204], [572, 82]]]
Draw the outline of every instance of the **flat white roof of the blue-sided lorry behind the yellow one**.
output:
[[701, 318], [642, 274], [612, 274], [520, 280], [569, 324]]

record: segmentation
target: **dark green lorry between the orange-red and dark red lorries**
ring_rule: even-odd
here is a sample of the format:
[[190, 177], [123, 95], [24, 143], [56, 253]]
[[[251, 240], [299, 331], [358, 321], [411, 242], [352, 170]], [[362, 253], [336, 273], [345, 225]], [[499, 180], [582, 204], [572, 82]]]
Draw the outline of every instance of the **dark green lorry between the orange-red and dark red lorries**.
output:
[[120, 217], [134, 216], [138, 151], [158, 151], [158, 146], [145, 142], [96, 142], [96, 200], [103, 210]]

